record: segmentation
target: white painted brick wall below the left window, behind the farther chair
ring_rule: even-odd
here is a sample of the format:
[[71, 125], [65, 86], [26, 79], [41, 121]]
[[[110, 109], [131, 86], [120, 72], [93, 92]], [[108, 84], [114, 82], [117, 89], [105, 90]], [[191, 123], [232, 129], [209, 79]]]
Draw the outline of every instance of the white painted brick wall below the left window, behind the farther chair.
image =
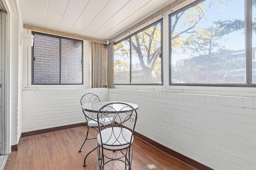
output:
[[108, 89], [64, 89], [22, 91], [22, 132], [85, 122], [80, 98], [92, 92], [108, 101]]

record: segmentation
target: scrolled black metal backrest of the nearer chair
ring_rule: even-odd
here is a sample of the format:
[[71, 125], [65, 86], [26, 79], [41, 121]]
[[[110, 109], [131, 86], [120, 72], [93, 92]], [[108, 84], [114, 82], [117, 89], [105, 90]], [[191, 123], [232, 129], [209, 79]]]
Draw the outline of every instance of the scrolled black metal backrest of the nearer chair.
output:
[[[103, 125], [104, 119], [112, 118], [109, 126]], [[98, 127], [103, 126], [109, 131], [109, 139], [102, 139], [101, 129], [100, 139], [102, 146], [123, 146], [130, 147], [133, 141], [134, 128], [137, 121], [137, 111], [129, 104], [122, 102], [112, 102], [101, 107], [97, 113]]]

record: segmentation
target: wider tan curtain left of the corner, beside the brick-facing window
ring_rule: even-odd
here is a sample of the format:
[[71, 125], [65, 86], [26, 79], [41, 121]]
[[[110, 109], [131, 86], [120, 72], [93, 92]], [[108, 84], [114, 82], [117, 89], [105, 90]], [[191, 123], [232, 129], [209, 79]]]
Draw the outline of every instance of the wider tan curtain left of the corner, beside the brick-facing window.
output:
[[105, 88], [107, 45], [92, 42], [92, 88]]

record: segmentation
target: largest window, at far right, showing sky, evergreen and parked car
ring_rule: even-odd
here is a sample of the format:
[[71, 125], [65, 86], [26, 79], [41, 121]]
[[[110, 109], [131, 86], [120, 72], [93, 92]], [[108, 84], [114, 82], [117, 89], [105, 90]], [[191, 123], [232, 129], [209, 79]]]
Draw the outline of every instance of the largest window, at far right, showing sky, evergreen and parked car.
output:
[[198, 0], [169, 15], [170, 84], [256, 84], [256, 1], [249, 1]]

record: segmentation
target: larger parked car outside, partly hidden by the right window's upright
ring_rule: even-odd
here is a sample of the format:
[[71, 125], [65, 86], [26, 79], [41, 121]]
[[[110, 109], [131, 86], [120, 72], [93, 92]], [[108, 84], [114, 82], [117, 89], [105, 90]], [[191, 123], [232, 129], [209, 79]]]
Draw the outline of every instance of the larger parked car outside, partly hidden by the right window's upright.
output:
[[[256, 69], [252, 69], [252, 80], [256, 80]], [[224, 75], [225, 83], [246, 83], [246, 70], [232, 70]]]

